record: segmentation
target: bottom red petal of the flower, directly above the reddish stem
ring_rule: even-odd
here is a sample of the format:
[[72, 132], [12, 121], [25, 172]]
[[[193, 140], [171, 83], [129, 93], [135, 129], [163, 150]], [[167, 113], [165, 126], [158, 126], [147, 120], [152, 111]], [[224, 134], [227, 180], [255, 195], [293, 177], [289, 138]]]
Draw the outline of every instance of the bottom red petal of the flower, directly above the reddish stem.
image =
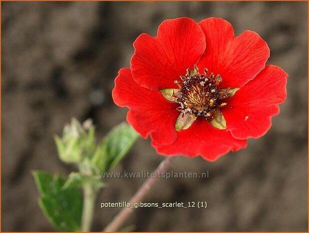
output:
[[163, 155], [200, 155], [208, 161], [214, 161], [230, 150], [246, 147], [246, 141], [233, 138], [225, 130], [213, 128], [205, 119], [199, 117], [188, 129], [178, 132], [177, 140], [173, 144], [161, 146], [152, 142], [152, 146]]

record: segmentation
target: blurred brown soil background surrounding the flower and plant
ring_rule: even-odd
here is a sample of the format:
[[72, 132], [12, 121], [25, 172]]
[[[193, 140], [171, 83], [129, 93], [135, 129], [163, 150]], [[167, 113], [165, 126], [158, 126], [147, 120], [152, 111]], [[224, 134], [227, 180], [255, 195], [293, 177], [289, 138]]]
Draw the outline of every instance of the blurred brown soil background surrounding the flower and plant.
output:
[[[307, 231], [306, 2], [2, 2], [2, 231], [54, 231], [38, 204], [31, 171], [68, 174], [53, 142], [63, 124], [92, 118], [98, 138], [125, 121], [111, 100], [132, 42], [155, 36], [165, 19], [229, 21], [239, 35], [257, 32], [267, 64], [289, 74], [288, 97], [269, 132], [216, 162], [178, 157], [175, 172], [209, 171], [207, 179], [159, 180], [144, 201], [206, 200], [206, 209], [139, 208], [124, 226], [136, 231]], [[113, 171], [151, 171], [163, 159], [139, 139]], [[128, 200], [143, 179], [109, 180], [96, 201], [92, 230]]]

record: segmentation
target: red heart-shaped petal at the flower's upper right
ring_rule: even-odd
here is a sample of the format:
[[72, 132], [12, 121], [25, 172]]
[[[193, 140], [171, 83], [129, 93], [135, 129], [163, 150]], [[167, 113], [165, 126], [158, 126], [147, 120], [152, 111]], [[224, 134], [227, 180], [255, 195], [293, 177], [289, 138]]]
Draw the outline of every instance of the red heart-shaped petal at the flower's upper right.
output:
[[221, 88], [242, 87], [265, 67], [269, 48], [257, 33], [245, 31], [234, 38], [232, 26], [217, 18], [203, 20], [199, 25], [207, 47], [198, 68], [220, 74]]

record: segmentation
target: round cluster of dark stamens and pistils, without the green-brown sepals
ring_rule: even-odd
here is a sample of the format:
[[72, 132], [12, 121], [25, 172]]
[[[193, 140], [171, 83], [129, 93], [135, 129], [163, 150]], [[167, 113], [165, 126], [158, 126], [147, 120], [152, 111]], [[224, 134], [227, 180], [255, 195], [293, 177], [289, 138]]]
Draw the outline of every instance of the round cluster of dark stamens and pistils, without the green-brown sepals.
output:
[[180, 81], [175, 81], [179, 88], [179, 97], [176, 102], [180, 104], [177, 108], [180, 112], [194, 115], [195, 117], [211, 116], [211, 110], [225, 106], [226, 103], [221, 102], [224, 93], [218, 88], [218, 84], [222, 81], [218, 74], [214, 77], [211, 73], [208, 76], [207, 69], [200, 74], [196, 66], [193, 70], [187, 69], [185, 76], [180, 76]]

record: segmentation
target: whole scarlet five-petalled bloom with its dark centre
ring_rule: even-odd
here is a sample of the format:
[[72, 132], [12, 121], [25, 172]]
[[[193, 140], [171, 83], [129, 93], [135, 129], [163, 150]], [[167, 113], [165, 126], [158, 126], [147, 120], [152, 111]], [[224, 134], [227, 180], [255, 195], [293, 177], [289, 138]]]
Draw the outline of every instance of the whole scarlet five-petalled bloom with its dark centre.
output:
[[287, 74], [265, 66], [267, 44], [252, 31], [235, 37], [225, 20], [166, 20], [156, 37], [143, 33], [133, 47], [112, 98], [159, 154], [214, 161], [245, 148], [285, 101]]

